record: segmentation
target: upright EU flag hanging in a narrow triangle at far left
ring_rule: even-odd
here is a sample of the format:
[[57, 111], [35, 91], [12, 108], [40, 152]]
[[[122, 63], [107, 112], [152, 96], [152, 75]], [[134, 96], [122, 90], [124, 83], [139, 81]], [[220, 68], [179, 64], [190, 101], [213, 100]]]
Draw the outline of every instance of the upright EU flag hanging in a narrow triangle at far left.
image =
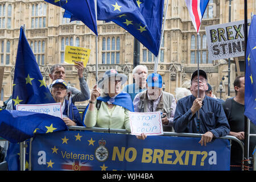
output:
[[13, 82], [13, 108], [17, 104], [55, 103], [40, 72], [34, 53], [20, 28]]

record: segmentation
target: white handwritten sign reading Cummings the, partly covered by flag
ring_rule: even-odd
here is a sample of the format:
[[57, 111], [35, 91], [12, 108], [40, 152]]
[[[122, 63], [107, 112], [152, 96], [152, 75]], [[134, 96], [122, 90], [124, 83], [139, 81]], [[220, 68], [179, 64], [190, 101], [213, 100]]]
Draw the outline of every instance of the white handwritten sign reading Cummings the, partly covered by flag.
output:
[[16, 105], [16, 109], [35, 113], [44, 113], [62, 118], [60, 102], [51, 104], [18, 104]]

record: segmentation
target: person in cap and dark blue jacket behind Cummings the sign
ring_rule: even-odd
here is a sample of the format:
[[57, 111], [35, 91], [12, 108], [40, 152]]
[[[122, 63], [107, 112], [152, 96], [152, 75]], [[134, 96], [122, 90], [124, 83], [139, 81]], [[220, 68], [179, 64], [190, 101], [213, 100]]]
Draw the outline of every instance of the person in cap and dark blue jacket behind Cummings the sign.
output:
[[67, 95], [67, 83], [63, 79], [53, 81], [51, 93], [54, 100], [61, 103], [63, 121], [65, 124], [67, 126], [82, 126], [79, 110], [71, 101], [65, 100], [65, 96]]

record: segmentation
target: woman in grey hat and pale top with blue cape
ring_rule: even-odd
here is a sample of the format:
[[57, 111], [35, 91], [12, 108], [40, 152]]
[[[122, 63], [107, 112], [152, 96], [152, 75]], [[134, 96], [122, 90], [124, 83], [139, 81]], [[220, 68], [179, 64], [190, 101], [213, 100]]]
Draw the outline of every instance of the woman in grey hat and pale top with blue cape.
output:
[[[120, 92], [121, 85], [127, 76], [110, 69], [93, 87], [89, 106], [84, 117], [86, 127], [104, 127], [112, 129], [126, 129], [130, 131], [129, 110], [133, 111], [133, 102], [129, 94]], [[101, 94], [101, 89], [103, 93]], [[101, 97], [100, 97], [101, 96]], [[100, 103], [96, 107], [96, 101]]]

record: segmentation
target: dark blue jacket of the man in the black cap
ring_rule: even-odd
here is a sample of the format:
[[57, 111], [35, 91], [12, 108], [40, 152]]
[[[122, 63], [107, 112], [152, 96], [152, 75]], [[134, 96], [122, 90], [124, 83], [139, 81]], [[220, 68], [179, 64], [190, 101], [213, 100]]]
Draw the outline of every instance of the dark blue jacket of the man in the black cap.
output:
[[191, 95], [177, 102], [174, 114], [174, 130], [177, 133], [206, 133], [211, 131], [218, 138], [229, 135], [230, 127], [222, 104], [205, 96], [200, 109], [200, 131], [197, 130], [197, 112], [192, 116], [191, 107], [196, 97]]

